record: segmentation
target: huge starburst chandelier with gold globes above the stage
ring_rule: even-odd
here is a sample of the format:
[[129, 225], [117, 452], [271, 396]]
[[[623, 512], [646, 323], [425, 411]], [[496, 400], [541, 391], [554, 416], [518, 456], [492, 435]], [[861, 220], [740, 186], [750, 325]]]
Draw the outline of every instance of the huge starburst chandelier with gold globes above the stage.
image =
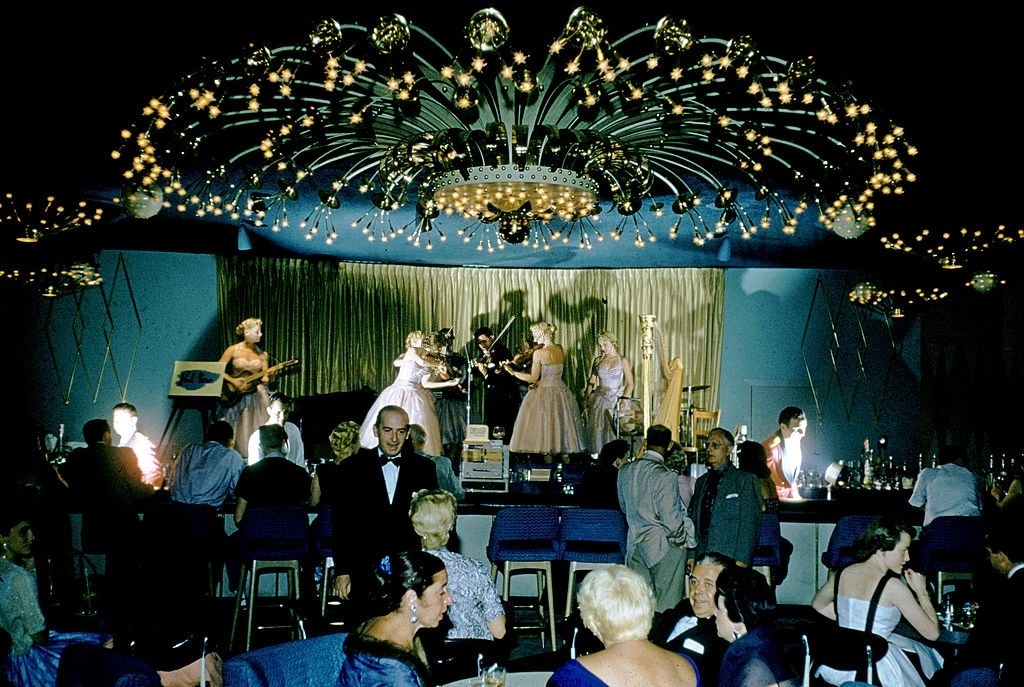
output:
[[535, 66], [495, 9], [470, 16], [457, 50], [397, 14], [324, 19], [184, 76], [114, 156], [126, 187], [165, 208], [329, 244], [432, 248], [454, 227], [487, 251], [702, 245], [793, 233], [802, 215], [856, 235], [914, 179], [902, 128], [810, 58], [671, 16], [610, 33], [581, 7]]

